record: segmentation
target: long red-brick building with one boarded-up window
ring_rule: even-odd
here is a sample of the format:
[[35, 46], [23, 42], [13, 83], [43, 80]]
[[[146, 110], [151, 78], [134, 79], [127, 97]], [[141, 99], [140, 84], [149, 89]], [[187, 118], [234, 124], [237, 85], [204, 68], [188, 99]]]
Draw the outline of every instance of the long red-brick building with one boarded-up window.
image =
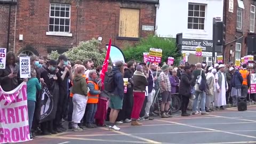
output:
[[[157, 0], [0, 0], [0, 47], [15, 53], [60, 53], [102, 37], [123, 48], [154, 34]], [[11, 8], [10, 8], [11, 6]], [[10, 12], [10, 30], [9, 28]]]

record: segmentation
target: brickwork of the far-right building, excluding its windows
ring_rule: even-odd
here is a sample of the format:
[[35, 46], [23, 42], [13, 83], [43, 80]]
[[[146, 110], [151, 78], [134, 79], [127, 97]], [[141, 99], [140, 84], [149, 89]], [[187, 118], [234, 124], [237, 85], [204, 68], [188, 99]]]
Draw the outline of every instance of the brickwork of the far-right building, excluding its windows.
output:
[[[236, 29], [237, 7], [238, 7], [237, 1], [234, 1], [234, 12], [233, 13], [228, 11], [228, 4], [229, 4], [228, 0], [225, 0], [225, 3], [226, 2], [227, 2], [226, 43], [229, 43], [241, 36], [244, 36], [243, 38], [238, 39], [236, 42], [226, 45], [226, 47], [225, 47], [225, 62], [228, 62], [230, 50], [235, 52], [236, 43], [242, 44], [241, 57], [244, 57], [245, 55], [247, 55], [247, 45], [246, 45], [245, 39], [247, 37], [247, 33], [250, 30], [250, 7], [251, 7], [251, 4], [253, 4], [253, 1], [252, 0], [243, 1], [245, 9], [243, 9], [242, 30]], [[235, 62], [235, 55], [234, 55], [234, 57], [231, 57], [231, 61]]]

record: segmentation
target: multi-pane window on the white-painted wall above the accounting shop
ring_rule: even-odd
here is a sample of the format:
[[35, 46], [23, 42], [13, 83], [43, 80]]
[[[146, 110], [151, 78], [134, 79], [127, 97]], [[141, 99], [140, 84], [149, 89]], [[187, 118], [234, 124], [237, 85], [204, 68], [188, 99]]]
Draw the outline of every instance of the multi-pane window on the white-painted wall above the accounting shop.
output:
[[188, 29], [204, 29], [205, 5], [188, 4]]

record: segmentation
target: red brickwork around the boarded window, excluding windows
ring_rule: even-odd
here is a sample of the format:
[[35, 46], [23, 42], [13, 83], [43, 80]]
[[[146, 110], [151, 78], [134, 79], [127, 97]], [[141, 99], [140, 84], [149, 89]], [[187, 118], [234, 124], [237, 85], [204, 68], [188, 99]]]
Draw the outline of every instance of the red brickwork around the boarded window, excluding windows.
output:
[[[73, 34], [72, 37], [46, 35], [46, 31], [49, 30], [50, 2], [53, 1], [71, 4], [70, 33]], [[10, 43], [11, 50], [15, 47], [15, 53], [29, 50], [39, 55], [46, 55], [51, 50], [65, 51], [76, 46], [79, 41], [87, 41], [93, 37], [98, 38], [98, 36], [103, 38], [102, 48], [108, 44], [109, 38], [112, 38], [113, 44], [121, 48], [126, 44], [134, 44], [138, 41], [115, 38], [119, 31], [119, 9], [121, 6], [128, 6], [128, 8], [139, 6], [140, 37], [154, 34], [154, 31], [141, 30], [142, 25], [155, 26], [156, 8], [152, 3], [86, 0], [80, 1], [77, 10], [76, 1], [50, 0], [50, 2], [49, 0], [18, 1], [15, 46], [13, 45], [15, 8], [12, 9]], [[6, 47], [7, 30], [5, 28], [7, 27], [8, 9], [8, 5], [0, 4], [0, 11], [4, 13], [0, 15], [0, 19], [3, 19], [0, 23], [3, 23], [4, 26], [0, 27], [1, 47]], [[23, 35], [23, 41], [19, 41], [20, 34]]]

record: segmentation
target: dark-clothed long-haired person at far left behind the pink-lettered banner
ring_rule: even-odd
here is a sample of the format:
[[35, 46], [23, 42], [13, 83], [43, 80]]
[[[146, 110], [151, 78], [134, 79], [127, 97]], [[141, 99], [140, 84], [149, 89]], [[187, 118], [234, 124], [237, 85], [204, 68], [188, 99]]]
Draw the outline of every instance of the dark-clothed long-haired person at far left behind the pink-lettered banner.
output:
[[0, 83], [4, 91], [8, 92], [21, 84], [19, 65], [15, 64], [15, 54], [12, 51], [6, 54], [6, 67], [0, 69]]

